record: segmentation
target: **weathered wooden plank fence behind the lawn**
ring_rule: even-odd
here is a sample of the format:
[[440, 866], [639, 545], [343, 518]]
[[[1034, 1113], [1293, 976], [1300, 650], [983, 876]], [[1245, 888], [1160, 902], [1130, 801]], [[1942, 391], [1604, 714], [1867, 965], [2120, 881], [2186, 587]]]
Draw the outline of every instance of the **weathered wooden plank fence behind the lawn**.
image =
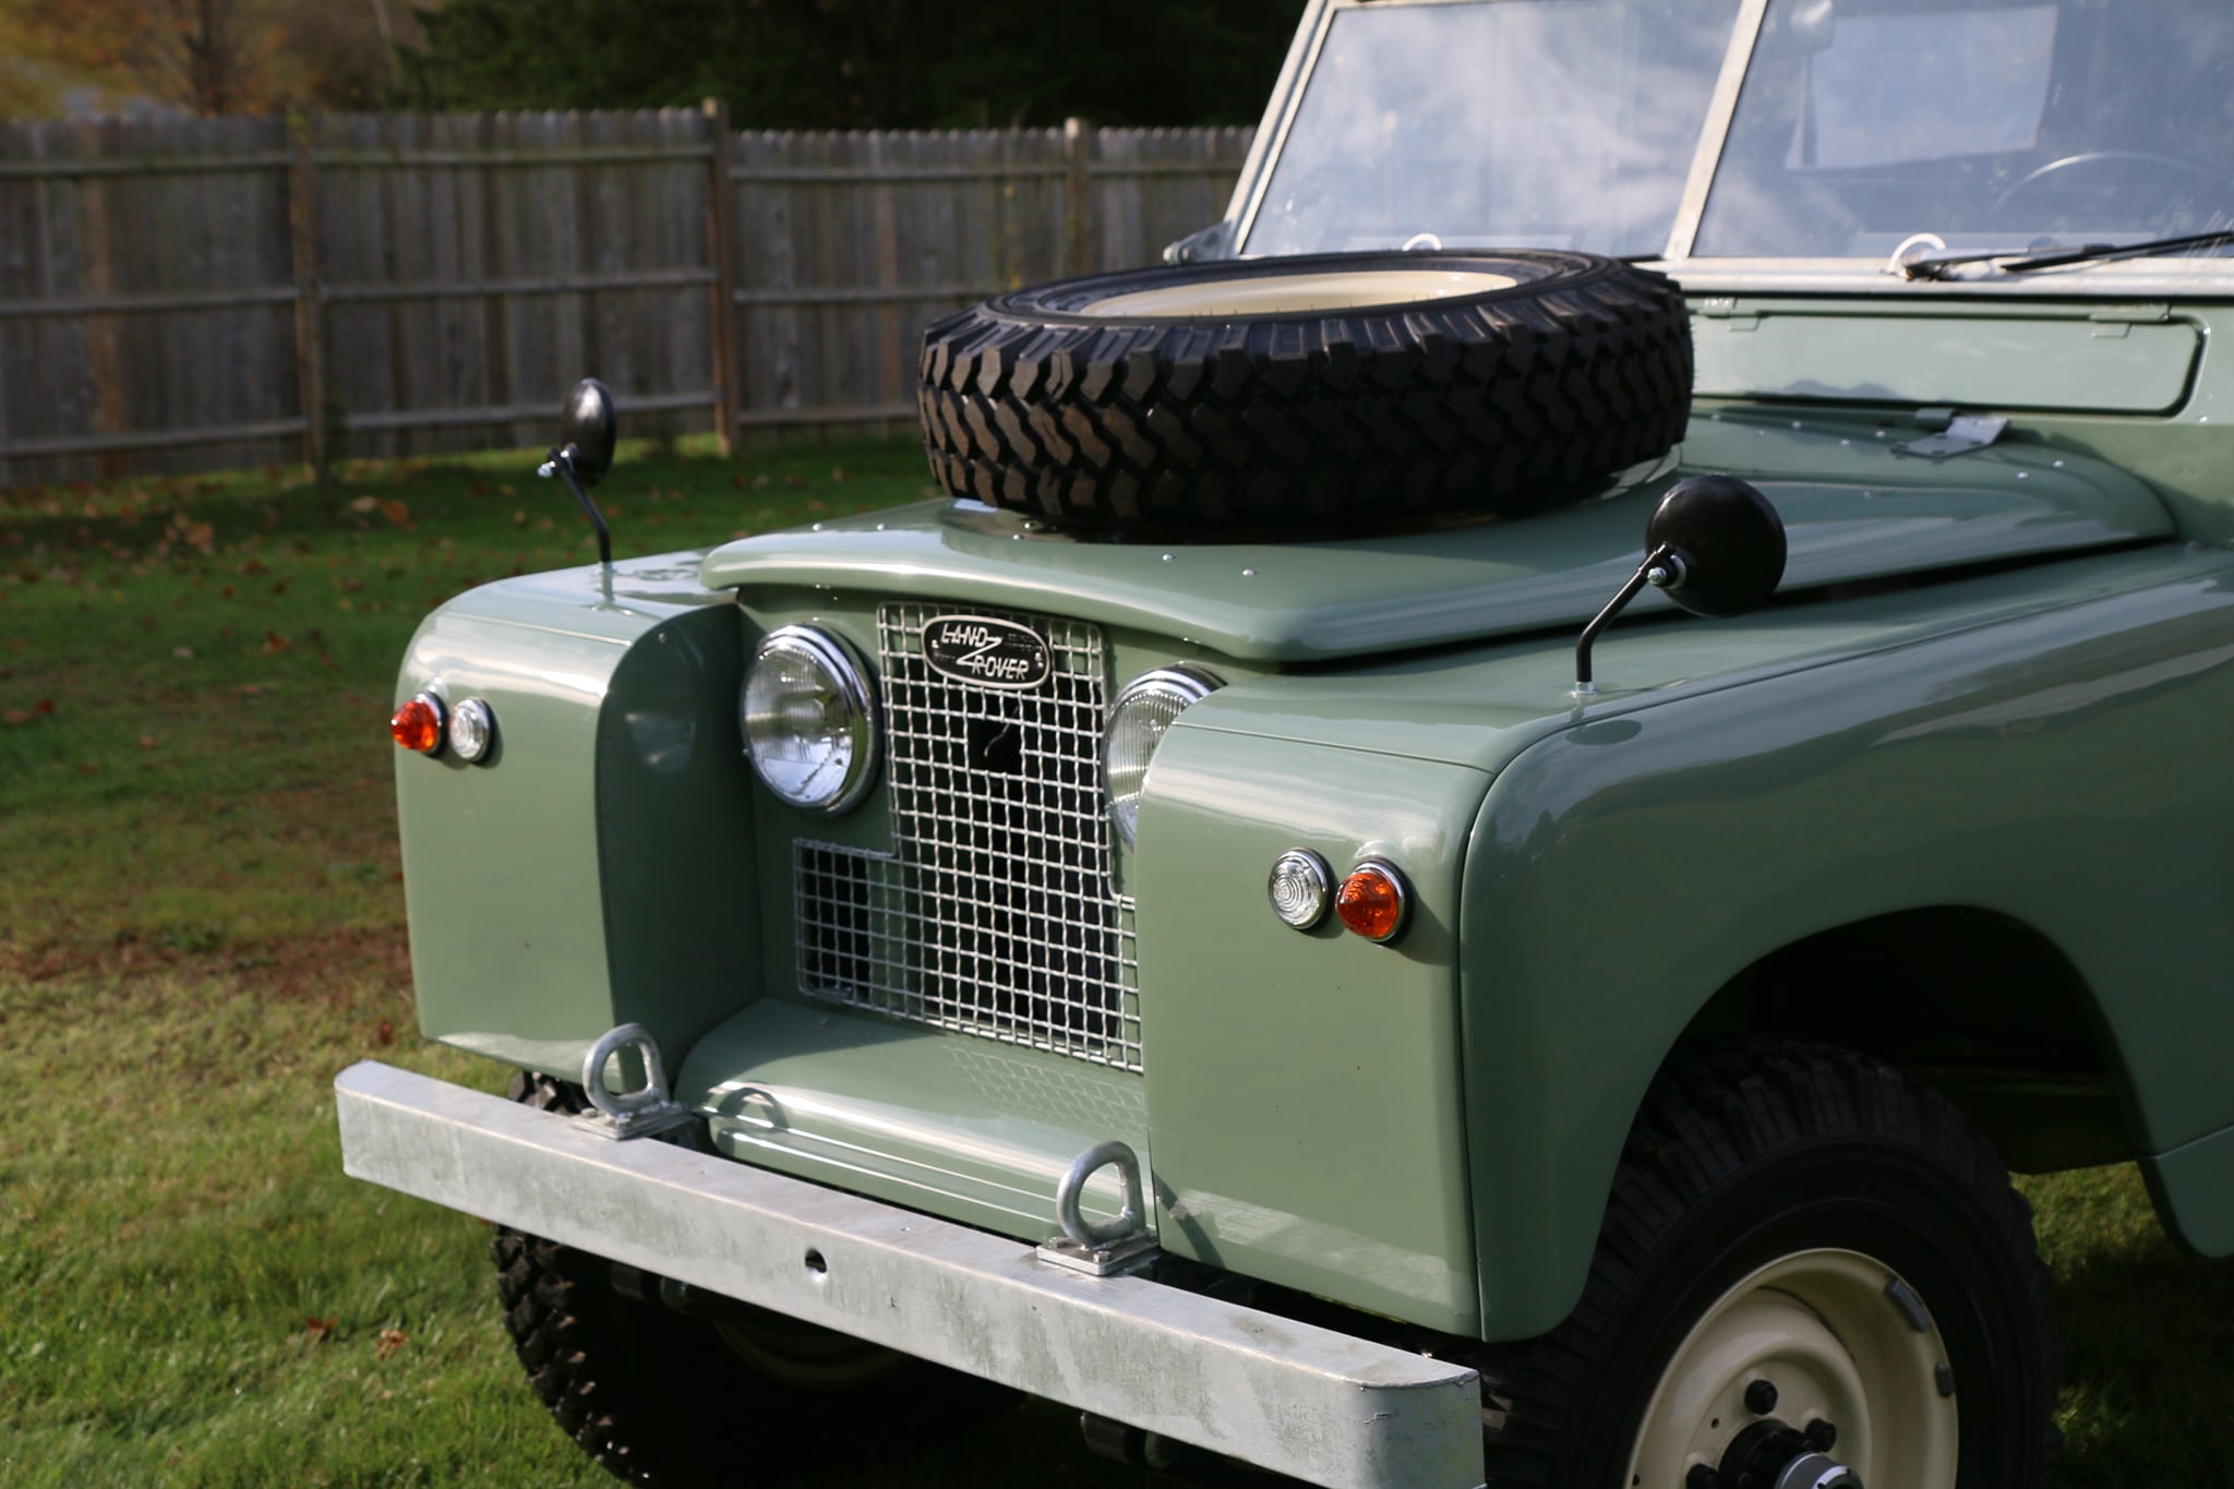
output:
[[945, 310], [1155, 261], [1247, 129], [630, 114], [0, 125], [0, 487], [914, 420]]

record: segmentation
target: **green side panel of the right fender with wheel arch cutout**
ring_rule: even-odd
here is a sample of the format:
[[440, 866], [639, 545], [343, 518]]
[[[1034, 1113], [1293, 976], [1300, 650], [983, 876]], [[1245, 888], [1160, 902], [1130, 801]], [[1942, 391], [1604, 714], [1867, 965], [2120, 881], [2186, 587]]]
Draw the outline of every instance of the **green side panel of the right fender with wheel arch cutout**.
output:
[[[1490, 1335], [1573, 1306], [1631, 1114], [1707, 1000], [1872, 915], [1975, 906], [2046, 935], [2142, 1152], [2234, 1123], [2234, 784], [2207, 768], [2234, 717], [2230, 576], [2223, 551], [2156, 551], [1859, 601], [1937, 603], [1939, 634], [1593, 703], [1499, 775], [1463, 949]], [[2033, 614], [1970, 625], [1970, 592]], [[1624, 670], [1711, 672], [1778, 621], [1640, 636]], [[2160, 1170], [2196, 1246], [2230, 1239], [2230, 1156]]]

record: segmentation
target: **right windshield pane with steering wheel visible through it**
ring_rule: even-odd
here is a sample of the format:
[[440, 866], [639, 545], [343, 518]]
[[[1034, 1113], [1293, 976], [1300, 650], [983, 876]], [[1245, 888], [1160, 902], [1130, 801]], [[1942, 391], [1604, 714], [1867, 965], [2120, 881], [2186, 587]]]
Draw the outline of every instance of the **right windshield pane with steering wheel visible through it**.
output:
[[1917, 232], [2015, 252], [2230, 221], [2225, 0], [1772, 0], [1693, 252], [1883, 259]]

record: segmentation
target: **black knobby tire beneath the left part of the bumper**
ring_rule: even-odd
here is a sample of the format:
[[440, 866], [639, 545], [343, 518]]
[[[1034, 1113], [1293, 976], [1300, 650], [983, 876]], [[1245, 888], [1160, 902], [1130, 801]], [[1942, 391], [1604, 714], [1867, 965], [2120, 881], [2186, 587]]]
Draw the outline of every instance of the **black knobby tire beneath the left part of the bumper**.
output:
[[[514, 1076], [512, 1098], [543, 1112], [588, 1109], [581, 1087], [536, 1074]], [[876, 1386], [780, 1384], [739, 1360], [713, 1322], [617, 1293], [603, 1257], [498, 1226], [489, 1259], [536, 1397], [581, 1451], [630, 1485], [809, 1469], [871, 1451], [880, 1435], [862, 1431], [869, 1422], [932, 1429], [936, 1418], [970, 1420], [958, 1413], [1014, 1400], [898, 1355]]]

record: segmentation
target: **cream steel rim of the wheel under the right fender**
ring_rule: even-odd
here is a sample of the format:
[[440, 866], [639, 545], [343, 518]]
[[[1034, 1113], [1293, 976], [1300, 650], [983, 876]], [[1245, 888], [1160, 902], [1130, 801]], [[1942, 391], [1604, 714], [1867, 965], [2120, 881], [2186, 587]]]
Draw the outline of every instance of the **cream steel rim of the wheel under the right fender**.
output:
[[1631, 1489], [1684, 1489], [1718, 1469], [1763, 1415], [1747, 1386], [1776, 1386], [1774, 1418], [1839, 1429], [1832, 1458], [1870, 1489], [1955, 1489], [1957, 1404], [1946, 1342], [1892, 1268], [1850, 1250], [1772, 1261], [1707, 1308], [1676, 1346], [1629, 1453]]

